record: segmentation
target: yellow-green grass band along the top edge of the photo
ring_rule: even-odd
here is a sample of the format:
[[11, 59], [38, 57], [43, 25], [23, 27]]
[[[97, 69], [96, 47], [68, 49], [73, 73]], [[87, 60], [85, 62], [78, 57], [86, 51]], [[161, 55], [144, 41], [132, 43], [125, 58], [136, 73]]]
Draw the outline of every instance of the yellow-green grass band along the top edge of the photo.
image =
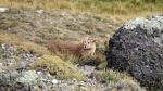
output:
[[163, 12], [163, 0], [0, 0], [0, 4], [12, 8], [61, 9], [129, 17]]

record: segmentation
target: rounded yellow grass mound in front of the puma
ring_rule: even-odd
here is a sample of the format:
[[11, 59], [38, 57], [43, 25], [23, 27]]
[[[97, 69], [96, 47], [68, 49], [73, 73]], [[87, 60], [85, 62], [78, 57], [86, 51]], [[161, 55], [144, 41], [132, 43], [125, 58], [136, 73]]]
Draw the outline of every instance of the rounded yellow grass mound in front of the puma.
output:
[[42, 67], [48, 69], [50, 74], [57, 76], [60, 79], [73, 79], [78, 80], [84, 78], [84, 75], [72, 64], [64, 62], [59, 56], [43, 55], [39, 61], [32, 64], [32, 68]]

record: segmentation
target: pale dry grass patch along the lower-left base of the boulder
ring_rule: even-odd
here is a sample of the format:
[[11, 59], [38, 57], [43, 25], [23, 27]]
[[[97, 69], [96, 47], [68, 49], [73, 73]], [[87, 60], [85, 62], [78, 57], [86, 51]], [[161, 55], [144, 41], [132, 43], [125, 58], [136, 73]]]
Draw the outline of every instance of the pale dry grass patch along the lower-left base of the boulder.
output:
[[139, 83], [126, 73], [109, 69], [106, 72], [96, 72], [92, 75], [96, 79], [103, 79], [106, 83], [109, 83], [112, 87], [111, 91], [117, 91], [120, 86], [129, 89], [126, 91], [145, 91], [145, 89], [141, 88]]

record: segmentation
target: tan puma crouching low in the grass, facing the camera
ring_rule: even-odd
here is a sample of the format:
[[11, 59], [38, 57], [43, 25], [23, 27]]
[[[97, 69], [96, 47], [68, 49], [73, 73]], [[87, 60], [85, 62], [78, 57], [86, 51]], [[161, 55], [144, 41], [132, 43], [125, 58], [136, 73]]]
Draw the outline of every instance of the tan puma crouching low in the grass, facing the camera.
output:
[[47, 48], [53, 52], [71, 53], [75, 56], [93, 55], [96, 43], [93, 39], [85, 38], [83, 41], [49, 40]]

